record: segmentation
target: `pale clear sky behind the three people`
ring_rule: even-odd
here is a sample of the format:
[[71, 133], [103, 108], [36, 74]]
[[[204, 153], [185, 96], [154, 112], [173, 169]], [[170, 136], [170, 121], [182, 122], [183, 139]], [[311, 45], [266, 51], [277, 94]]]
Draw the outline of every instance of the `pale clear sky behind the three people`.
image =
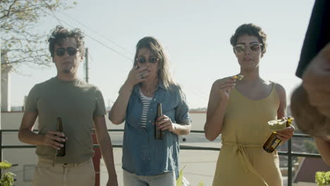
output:
[[[171, 73], [183, 87], [190, 108], [196, 109], [207, 106], [215, 80], [239, 73], [229, 39], [244, 23], [259, 25], [266, 32], [268, 49], [260, 61], [260, 75], [283, 85], [289, 99], [301, 82], [295, 70], [313, 5], [314, 0], [81, 0], [71, 9], [42, 18], [35, 31], [49, 34], [61, 24], [85, 32], [89, 82], [101, 89], [106, 106], [114, 104], [133, 67], [138, 40], [156, 37], [169, 55]], [[81, 78], [83, 68], [81, 63]], [[54, 64], [20, 66], [18, 71], [11, 74], [12, 106], [22, 106], [33, 85], [56, 76]]]

